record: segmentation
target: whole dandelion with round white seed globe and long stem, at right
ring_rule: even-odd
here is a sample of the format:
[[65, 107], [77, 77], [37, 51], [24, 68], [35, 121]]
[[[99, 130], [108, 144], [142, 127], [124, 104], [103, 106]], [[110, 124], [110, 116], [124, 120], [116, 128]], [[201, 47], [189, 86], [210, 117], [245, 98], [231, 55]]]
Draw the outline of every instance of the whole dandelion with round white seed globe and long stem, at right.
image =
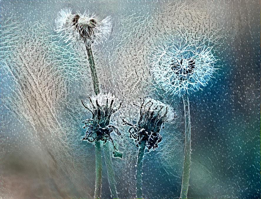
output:
[[[176, 40], [176, 42], [175, 42]], [[202, 90], [217, 70], [213, 47], [178, 39], [160, 44], [150, 56], [150, 70], [156, 84], [184, 103], [184, 165], [180, 198], [187, 198], [191, 156], [191, 124], [188, 95]]]

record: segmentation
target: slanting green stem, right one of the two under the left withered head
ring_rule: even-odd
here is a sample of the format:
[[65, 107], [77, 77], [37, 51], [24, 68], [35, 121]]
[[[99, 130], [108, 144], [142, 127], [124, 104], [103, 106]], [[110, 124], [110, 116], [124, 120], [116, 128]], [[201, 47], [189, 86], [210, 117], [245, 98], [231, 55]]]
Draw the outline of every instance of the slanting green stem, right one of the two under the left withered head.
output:
[[114, 178], [114, 170], [113, 170], [113, 166], [112, 166], [112, 155], [111, 155], [111, 150], [110, 150], [108, 142], [103, 145], [103, 149], [104, 149], [103, 151], [104, 151], [104, 155], [105, 155], [105, 163], [106, 163], [106, 167], [107, 167], [107, 174], [108, 174], [108, 181], [109, 181], [111, 196], [112, 196], [112, 198], [118, 198], [116, 182], [115, 182], [115, 178]]

